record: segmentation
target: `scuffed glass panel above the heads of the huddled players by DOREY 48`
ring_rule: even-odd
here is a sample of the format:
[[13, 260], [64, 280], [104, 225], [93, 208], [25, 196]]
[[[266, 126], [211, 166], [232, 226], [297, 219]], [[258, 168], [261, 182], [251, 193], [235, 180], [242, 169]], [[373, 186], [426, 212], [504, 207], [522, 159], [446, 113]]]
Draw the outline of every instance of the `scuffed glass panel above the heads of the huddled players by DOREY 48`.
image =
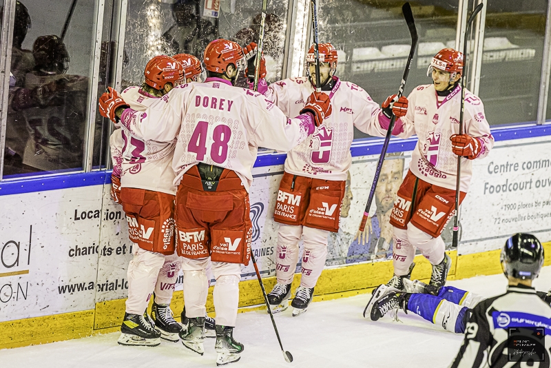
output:
[[[202, 59], [205, 47], [218, 38], [245, 46], [258, 42], [259, 0], [129, 0], [123, 69], [123, 88], [141, 85], [143, 69], [156, 55], [192, 54]], [[218, 6], [216, 8], [216, 6]], [[267, 80], [282, 77], [284, 39], [289, 2], [268, 1], [264, 33]], [[242, 84], [245, 79], [240, 79]]]

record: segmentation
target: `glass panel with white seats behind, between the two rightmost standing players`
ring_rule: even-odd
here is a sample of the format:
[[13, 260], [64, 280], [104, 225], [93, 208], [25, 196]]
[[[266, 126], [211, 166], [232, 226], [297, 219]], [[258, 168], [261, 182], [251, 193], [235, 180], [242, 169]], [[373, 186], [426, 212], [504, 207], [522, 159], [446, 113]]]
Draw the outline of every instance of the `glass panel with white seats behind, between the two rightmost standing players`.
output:
[[[398, 92], [411, 44], [402, 15], [404, 1], [329, 0], [320, 2], [320, 43], [339, 53], [337, 76], [364, 88], [377, 103]], [[459, 0], [421, 0], [411, 4], [419, 45], [404, 94], [432, 83], [426, 75], [433, 56], [455, 48]], [[355, 130], [354, 137], [366, 134]]]

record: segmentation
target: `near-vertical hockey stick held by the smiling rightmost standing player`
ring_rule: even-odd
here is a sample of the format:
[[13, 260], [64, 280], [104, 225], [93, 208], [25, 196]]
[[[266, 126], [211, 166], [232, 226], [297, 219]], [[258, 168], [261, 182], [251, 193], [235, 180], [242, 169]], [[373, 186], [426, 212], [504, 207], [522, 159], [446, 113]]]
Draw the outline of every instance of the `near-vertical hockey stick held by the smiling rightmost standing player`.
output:
[[[483, 3], [479, 3], [475, 10], [472, 10], [470, 17], [467, 19], [467, 24], [465, 25], [465, 37], [463, 39], [463, 76], [461, 76], [461, 112], [459, 112], [459, 134], [463, 134], [464, 128], [464, 113], [465, 113], [465, 77], [466, 77], [466, 67], [467, 67], [467, 38], [470, 25], [472, 21], [475, 20], [477, 14], [482, 10], [484, 6]], [[461, 156], [457, 156], [457, 179], [455, 182], [455, 218], [453, 220], [453, 239], [452, 247], [457, 248], [457, 243], [459, 243], [459, 190], [461, 189]]]

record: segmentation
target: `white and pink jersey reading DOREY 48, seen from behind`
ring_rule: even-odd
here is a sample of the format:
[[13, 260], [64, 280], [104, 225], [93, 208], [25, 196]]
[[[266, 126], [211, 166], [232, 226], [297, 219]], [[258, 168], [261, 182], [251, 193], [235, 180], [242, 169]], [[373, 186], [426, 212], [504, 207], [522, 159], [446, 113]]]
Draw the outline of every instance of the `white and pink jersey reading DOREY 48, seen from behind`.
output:
[[247, 190], [258, 147], [287, 152], [313, 130], [309, 114], [288, 119], [262, 94], [218, 78], [179, 85], [144, 112], [125, 110], [121, 122], [145, 139], [177, 137], [174, 185], [202, 162], [235, 171]]

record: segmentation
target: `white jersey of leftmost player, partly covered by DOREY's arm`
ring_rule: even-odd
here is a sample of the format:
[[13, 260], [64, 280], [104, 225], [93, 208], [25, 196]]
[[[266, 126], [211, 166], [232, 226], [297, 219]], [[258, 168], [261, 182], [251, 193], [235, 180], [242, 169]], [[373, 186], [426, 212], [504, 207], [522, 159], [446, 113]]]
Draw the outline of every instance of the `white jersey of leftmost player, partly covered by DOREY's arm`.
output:
[[[129, 87], [121, 93], [125, 102], [135, 111], [143, 112], [161, 98], [143, 92], [138, 87]], [[174, 171], [172, 170], [173, 141], [159, 142], [146, 139], [140, 132], [129, 130], [121, 124], [123, 139], [123, 162], [121, 164], [121, 187], [131, 187], [176, 195]]]

